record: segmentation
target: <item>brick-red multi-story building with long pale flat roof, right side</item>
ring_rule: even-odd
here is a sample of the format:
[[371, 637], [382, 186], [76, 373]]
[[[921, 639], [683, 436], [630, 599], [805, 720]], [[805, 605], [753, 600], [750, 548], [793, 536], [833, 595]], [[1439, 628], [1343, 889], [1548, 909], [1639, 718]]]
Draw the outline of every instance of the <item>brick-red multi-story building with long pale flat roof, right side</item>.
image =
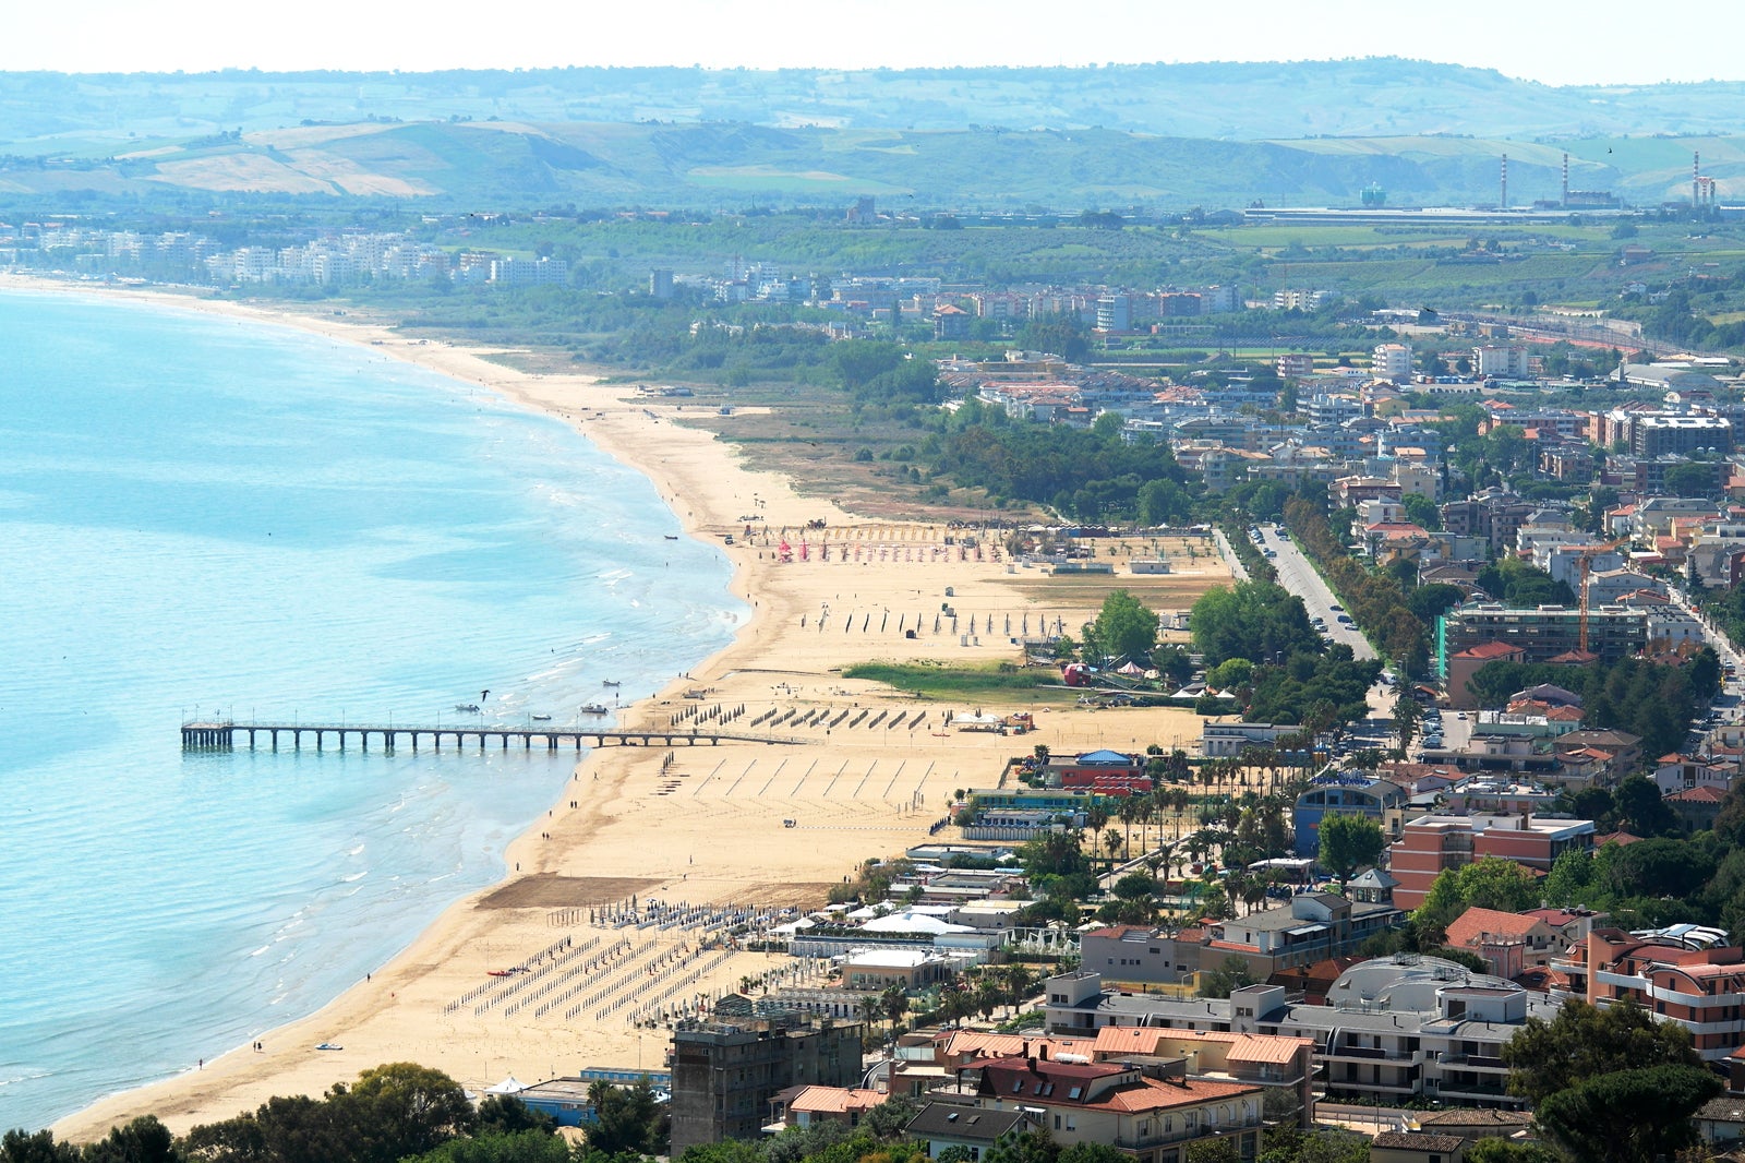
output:
[[1412, 910], [1429, 896], [1443, 871], [1464, 868], [1487, 856], [1551, 871], [1564, 852], [1593, 849], [1591, 819], [1544, 815], [1420, 815], [1408, 821], [1399, 840], [1387, 849], [1387, 871], [1394, 903]]

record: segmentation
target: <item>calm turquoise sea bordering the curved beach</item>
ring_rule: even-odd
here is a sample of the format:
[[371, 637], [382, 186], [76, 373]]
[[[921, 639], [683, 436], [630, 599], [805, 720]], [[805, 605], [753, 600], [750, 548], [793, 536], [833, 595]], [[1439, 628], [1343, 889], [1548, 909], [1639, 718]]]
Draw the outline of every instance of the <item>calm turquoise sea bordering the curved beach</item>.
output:
[[0, 292], [0, 1130], [321, 1008], [499, 880], [576, 761], [183, 721], [647, 697], [747, 618], [677, 533], [564, 423], [382, 348]]

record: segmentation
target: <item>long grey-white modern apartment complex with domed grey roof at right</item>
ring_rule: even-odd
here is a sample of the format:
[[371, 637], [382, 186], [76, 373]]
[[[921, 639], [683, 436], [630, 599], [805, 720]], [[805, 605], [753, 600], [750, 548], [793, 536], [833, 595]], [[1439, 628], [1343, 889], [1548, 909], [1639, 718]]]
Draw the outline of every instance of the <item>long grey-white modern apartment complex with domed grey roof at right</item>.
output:
[[1345, 969], [1326, 1004], [1291, 1002], [1284, 987], [1251, 985], [1228, 999], [1103, 990], [1094, 973], [1047, 981], [1047, 1029], [1078, 1037], [1106, 1027], [1274, 1034], [1314, 1043], [1330, 1098], [1520, 1105], [1506, 1093], [1502, 1046], [1557, 1002], [1504, 978], [1440, 957], [1377, 957]]

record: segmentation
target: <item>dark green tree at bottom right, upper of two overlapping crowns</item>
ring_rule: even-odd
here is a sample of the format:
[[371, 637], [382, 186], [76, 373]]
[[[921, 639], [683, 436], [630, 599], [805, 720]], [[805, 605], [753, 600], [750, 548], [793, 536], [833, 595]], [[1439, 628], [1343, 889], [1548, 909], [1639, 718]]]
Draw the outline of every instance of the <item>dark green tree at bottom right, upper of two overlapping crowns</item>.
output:
[[1590, 1006], [1567, 1001], [1557, 1016], [1527, 1018], [1502, 1044], [1509, 1093], [1532, 1107], [1588, 1079], [1637, 1067], [1701, 1067], [1691, 1034], [1677, 1022], [1656, 1022], [1633, 1002]]

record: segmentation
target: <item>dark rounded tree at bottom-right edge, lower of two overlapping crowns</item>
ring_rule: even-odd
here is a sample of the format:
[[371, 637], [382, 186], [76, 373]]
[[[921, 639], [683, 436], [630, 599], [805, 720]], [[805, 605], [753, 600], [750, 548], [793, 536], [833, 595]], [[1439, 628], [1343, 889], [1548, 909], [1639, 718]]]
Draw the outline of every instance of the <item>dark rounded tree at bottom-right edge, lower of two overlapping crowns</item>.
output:
[[1618, 1070], [1548, 1095], [1534, 1119], [1577, 1160], [1656, 1163], [1696, 1144], [1691, 1116], [1721, 1091], [1696, 1065]]

